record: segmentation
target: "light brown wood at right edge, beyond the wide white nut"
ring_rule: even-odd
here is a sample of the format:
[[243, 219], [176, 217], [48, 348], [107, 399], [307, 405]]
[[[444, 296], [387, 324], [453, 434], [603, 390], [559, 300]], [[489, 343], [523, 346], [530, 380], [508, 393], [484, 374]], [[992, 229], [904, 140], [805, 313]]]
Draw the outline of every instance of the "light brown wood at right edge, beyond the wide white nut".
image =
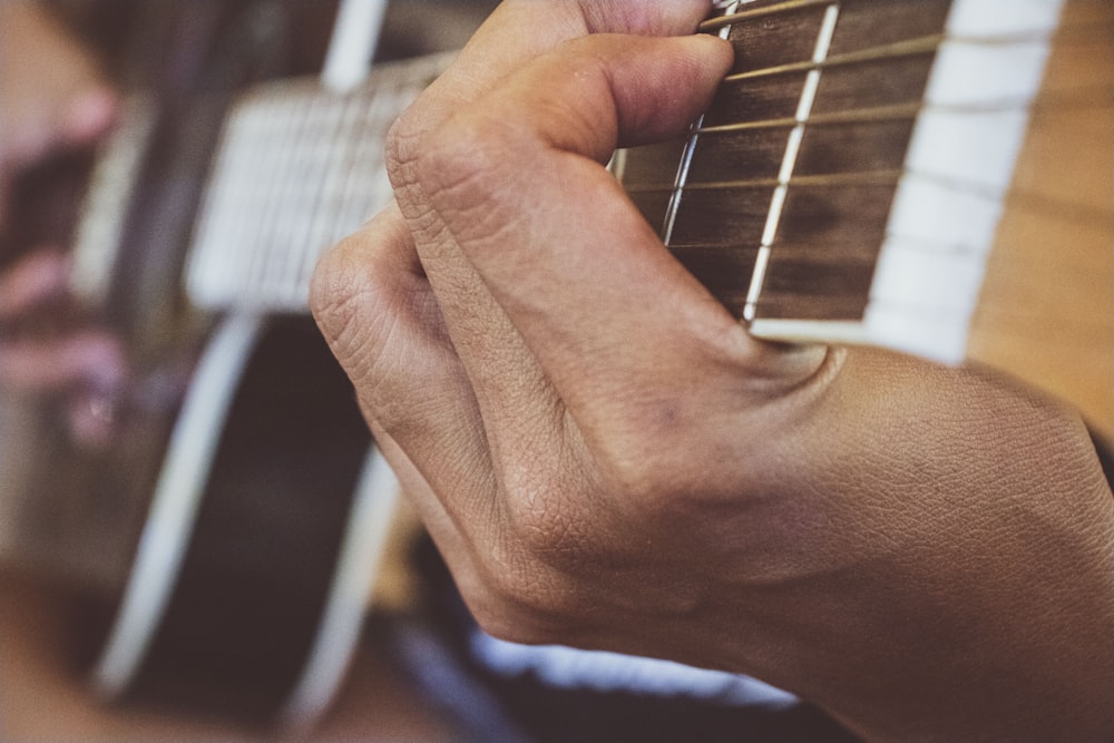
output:
[[987, 266], [971, 356], [1075, 405], [1112, 437], [1114, 3], [1073, 0], [1062, 29]]

